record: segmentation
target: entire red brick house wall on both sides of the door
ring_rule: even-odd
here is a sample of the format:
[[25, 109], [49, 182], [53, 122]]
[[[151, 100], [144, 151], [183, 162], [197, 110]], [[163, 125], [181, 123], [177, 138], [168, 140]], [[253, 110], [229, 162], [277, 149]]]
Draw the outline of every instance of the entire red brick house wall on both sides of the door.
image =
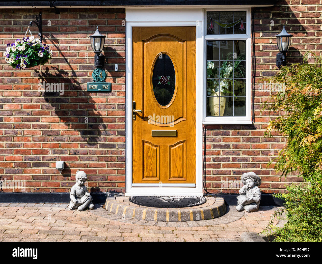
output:
[[[273, 166], [267, 168], [267, 163], [282, 149], [285, 138], [277, 133], [273, 138], [264, 138], [270, 116], [260, 112], [260, 105], [269, 92], [258, 90], [264, 78], [274, 75], [277, 69], [275, 35], [283, 24], [293, 35], [290, 63], [300, 62], [306, 51], [319, 54], [321, 1], [302, 2], [278, 1], [274, 7], [256, 10], [255, 123], [208, 126], [206, 185], [212, 193], [237, 193], [238, 183], [230, 184], [239, 181], [247, 171], [261, 176], [260, 188], [266, 193], [283, 192], [285, 184], [301, 180], [296, 176], [279, 178]], [[0, 10], [0, 175], [7, 180], [25, 180], [27, 192], [69, 192], [76, 171], [81, 169], [89, 176], [90, 191], [124, 192], [125, 10], [60, 11], [60, 15], [42, 11], [43, 42], [53, 51], [51, 64], [20, 71], [5, 63], [3, 52], [7, 43], [24, 36], [38, 10]], [[106, 82], [112, 83], [111, 93], [86, 91], [94, 70], [89, 35], [97, 24], [101, 32], [107, 32], [104, 52]], [[37, 34], [36, 26], [31, 29]], [[118, 72], [114, 72], [116, 63]], [[65, 93], [41, 94], [38, 85], [44, 81], [63, 83]], [[57, 160], [65, 161], [62, 174], [55, 169]]]

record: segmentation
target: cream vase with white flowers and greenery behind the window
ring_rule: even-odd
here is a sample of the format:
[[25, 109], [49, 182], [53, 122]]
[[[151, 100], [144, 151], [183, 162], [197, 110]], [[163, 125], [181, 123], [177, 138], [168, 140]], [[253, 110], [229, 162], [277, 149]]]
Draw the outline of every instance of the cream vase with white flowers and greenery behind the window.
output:
[[207, 62], [207, 95], [210, 96], [208, 104], [212, 116], [223, 116], [226, 106], [225, 96], [229, 94], [236, 96], [232, 91], [233, 77], [244, 75], [244, 68], [241, 65], [241, 60], [244, 58], [244, 55], [240, 55], [236, 61], [223, 61], [219, 67], [219, 76], [214, 62]]

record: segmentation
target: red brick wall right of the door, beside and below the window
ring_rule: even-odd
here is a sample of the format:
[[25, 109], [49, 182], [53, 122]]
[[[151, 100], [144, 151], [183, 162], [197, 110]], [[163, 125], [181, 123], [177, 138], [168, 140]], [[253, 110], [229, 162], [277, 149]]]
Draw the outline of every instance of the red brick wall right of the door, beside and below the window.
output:
[[272, 138], [264, 137], [270, 116], [266, 111], [260, 112], [260, 109], [270, 92], [259, 91], [259, 88], [265, 81], [269, 83], [265, 79], [278, 70], [276, 54], [279, 50], [275, 35], [281, 32], [283, 24], [293, 35], [287, 53], [289, 63], [302, 62], [302, 56], [307, 51], [320, 54], [321, 12], [321, 0], [278, 1], [274, 7], [255, 10], [255, 123], [254, 126], [209, 126], [206, 133], [206, 186], [209, 192], [238, 193], [240, 186], [234, 181], [240, 181], [242, 173], [248, 171], [260, 175], [260, 189], [265, 193], [283, 192], [285, 185], [301, 181], [295, 175], [280, 178], [273, 165], [267, 167], [268, 162], [277, 157], [286, 139], [276, 132], [272, 133]]

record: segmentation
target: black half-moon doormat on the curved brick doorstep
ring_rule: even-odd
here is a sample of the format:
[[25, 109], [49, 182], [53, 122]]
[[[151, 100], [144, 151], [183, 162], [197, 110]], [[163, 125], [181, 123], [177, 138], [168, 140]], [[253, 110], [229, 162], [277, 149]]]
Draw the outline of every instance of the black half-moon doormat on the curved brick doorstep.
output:
[[203, 196], [131, 196], [129, 200], [138, 205], [157, 208], [192, 207], [206, 202]]

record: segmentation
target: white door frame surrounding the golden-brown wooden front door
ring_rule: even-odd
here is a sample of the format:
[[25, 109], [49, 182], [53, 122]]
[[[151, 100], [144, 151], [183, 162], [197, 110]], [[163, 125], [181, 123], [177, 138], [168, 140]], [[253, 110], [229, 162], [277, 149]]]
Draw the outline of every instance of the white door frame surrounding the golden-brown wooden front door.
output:
[[[203, 73], [204, 73], [203, 9], [126, 9], [126, 177], [125, 195], [203, 195]], [[196, 27], [196, 185], [195, 187], [132, 186], [132, 27], [195, 26]], [[157, 184], [159, 185], [159, 184]]]

